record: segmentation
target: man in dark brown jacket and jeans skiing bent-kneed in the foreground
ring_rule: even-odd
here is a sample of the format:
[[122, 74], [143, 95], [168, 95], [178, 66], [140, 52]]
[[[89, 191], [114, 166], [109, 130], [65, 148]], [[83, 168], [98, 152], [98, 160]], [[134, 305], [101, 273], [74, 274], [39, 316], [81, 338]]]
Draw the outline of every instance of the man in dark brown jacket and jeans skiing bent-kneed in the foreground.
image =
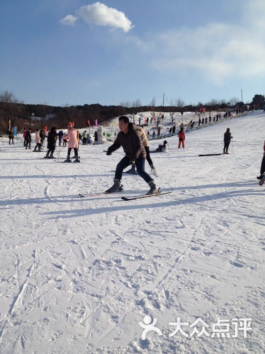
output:
[[144, 179], [150, 187], [147, 194], [158, 194], [160, 191], [157, 189], [151, 176], [144, 170], [146, 152], [138, 131], [135, 126], [129, 122], [129, 118], [127, 116], [119, 117], [119, 127], [120, 132], [118, 133], [113, 145], [109, 147], [107, 155], [111, 155], [112, 152], [118, 150], [122, 146], [125, 156], [116, 167], [114, 185], [105, 191], [105, 193], [114, 193], [119, 191], [124, 168], [135, 163], [139, 176], [141, 176], [141, 178]]

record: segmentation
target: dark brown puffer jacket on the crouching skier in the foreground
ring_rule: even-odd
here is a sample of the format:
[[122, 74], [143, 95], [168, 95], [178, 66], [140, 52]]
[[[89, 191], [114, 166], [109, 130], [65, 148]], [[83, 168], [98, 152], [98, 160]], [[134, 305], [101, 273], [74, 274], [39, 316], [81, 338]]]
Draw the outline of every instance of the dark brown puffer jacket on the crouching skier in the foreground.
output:
[[126, 156], [130, 160], [146, 157], [146, 152], [143, 147], [140, 135], [132, 123], [129, 123], [129, 130], [127, 134], [124, 134], [122, 131], [118, 133], [115, 142], [112, 146], [109, 147], [108, 151], [114, 152], [121, 146], [123, 147]]

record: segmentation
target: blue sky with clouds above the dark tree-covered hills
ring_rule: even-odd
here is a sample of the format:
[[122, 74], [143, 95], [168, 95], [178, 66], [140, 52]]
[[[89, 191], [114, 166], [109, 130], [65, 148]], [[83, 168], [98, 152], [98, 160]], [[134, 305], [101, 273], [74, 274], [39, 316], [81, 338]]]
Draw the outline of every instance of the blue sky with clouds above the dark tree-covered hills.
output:
[[54, 106], [265, 94], [264, 0], [2, 0], [0, 91]]

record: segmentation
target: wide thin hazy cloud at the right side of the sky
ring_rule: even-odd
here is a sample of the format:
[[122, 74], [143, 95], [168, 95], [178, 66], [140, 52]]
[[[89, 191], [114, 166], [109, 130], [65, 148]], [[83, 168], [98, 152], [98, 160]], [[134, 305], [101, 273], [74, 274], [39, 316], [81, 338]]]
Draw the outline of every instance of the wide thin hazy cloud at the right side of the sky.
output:
[[[263, 2], [263, 0], [262, 0]], [[251, 8], [247, 21], [245, 8], [239, 24], [208, 23], [196, 28], [181, 28], [153, 35], [135, 45], [143, 53], [148, 52], [155, 70], [172, 75], [194, 70], [216, 84], [228, 77], [258, 77], [265, 74], [265, 16], [255, 13], [255, 5], [261, 10], [260, 0], [247, 3]], [[239, 14], [240, 15], [240, 14]]]

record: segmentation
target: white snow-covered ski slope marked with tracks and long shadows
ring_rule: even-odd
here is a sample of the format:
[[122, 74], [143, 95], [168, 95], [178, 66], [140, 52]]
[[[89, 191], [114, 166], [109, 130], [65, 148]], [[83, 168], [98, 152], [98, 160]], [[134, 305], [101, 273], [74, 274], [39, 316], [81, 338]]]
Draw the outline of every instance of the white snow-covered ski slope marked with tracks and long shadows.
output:
[[[230, 155], [198, 157], [223, 151], [227, 127]], [[168, 138], [169, 153], [151, 157], [157, 186], [174, 192], [133, 201], [121, 196], [149, 188], [127, 174], [120, 194], [78, 197], [112, 185], [122, 149], [80, 145], [70, 164], [66, 150], [41, 159], [1, 138], [0, 352], [264, 352], [264, 131], [258, 111], [189, 132], [185, 149]], [[162, 335], [141, 339], [145, 316]], [[169, 337], [177, 318], [188, 336]], [[198, 318], [209, 336], [189, 336]], [[218, 318], [230, 338], [211, 336]]]

